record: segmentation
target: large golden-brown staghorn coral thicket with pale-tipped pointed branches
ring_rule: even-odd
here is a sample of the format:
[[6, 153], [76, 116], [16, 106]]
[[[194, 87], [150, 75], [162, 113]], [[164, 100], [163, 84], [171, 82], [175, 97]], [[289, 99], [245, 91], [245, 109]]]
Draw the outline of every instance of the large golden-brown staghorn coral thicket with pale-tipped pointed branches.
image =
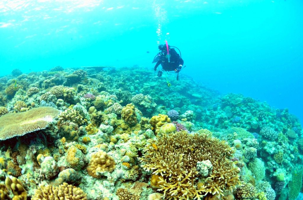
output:
[[[163, 191], [166, 199], [200, 199], [207, 193], [220, 197], [240, 184], [240, 169], [229, 159], [234, 150], [225, 141], [185, 131], [157, 135], [156, 138], [148, 140], [153, 145], [145, 147], [139, 160], [145, 170], [161, 174], [163, 178], [158, 191]], [[203, 183], [197, 189], [195, 181], [199, 172], [196, 165], [203, 160], [210, 160], [213, 169], [211, 175], [201, 177]]]

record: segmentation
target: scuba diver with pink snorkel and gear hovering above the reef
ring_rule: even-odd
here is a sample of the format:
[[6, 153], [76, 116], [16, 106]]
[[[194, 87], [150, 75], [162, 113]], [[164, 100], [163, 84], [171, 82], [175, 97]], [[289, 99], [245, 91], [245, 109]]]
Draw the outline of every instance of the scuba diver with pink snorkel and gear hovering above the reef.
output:
[[[171, 46], [173, 47], [173, 46]], [[162, 66], [162, 71], [175, 71], [175, 73], [178, 73], [179, 76], [179, 72], [181, 71], [184, 61], [181, 58], [181, 52], [180, 50], [175, 47], [176, 49], [179, 50], [180, 55], [177, 53], [177, 51], [174, 48], [170, 48], [169, 45], [163, 45], [160, 44], [158, 46], [160, 52], [155, 56], [154, 60], [152, 61], [152, 63], [156, 63], [154, 70], [156, 71], [158, 66], [161, 64]], [[169, 55], [169, 57], [168, 57]], [[185, 66], [184, 66], [185, 67]], [[183, 68], [184, 68], [183, 67]], [[158, 72], [158, 76], [162, 76], [162, 72], [159, 70]], [[178, 76], [177, 76], [177, 80], [178, 80]]]

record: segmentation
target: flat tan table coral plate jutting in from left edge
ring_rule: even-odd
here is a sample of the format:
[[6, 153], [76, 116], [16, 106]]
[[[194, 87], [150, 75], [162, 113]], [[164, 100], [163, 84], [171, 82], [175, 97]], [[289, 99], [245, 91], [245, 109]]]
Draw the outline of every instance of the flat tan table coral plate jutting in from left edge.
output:
[[45, 129], [60, 111], [52, 107], [33, 108], [21, 113], [8, 113], [0, 117], [0, 140]]

